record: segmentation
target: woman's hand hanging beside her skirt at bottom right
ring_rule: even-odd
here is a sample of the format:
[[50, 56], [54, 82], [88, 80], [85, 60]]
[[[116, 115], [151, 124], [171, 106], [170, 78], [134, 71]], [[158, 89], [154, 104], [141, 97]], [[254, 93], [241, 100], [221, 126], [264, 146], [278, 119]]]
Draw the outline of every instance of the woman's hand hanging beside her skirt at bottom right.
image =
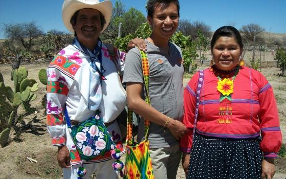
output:
[[261, 178], [271, 179], [275, 173], [275, 165], [273, 158], [265, 158], [261, 164]]

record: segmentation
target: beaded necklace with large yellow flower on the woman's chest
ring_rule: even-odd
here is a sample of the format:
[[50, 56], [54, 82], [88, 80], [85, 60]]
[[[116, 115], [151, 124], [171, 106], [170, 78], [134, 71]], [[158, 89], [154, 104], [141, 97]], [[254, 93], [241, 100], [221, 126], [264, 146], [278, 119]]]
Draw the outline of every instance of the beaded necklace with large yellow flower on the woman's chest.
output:
[[240, 65], [236, 65], [230, 71], [222, 71], [216, 65], [210, 67], [210, 71], [218, 78], [217, 89], [221, 93], [218, 123], [228, 124], [232, 122], [231, 95], [233, 94], [233, 81], [239, 73], [240, 67]]

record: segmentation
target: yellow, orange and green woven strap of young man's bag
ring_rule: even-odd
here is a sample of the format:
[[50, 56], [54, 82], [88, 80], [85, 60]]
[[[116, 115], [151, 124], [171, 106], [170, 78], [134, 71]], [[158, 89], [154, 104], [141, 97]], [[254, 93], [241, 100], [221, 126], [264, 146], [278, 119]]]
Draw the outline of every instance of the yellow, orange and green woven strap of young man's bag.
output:
[[[149, 62], [147, 55], [144, 51], [140, 51], [141, 60], [142, 60], [142, 71], [144, 77], [144, 85], [146, 91], [146, 99], [145, 101], [150, 105], [149, 98]], [[127, 137], [126, 142], [128, 145], [132, 145], [134, 143], [134, 138], [132, 135], [132, 123], [133, 123], [133, 111], [128, 108], [128, 118], [127, 118]], [[145, 119], [145, 139], [148, 138], [148, 130], [149, 130], [150, 121]]]

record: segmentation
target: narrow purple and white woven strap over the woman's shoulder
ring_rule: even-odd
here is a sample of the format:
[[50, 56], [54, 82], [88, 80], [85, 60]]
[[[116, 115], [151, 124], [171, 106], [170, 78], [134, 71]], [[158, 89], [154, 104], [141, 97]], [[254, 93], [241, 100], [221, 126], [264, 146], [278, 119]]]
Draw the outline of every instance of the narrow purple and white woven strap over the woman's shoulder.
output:
[[196, 92], [196, 111], [195, 111], [195, 121], [194, 121], [194, 129], [193, 129], [193, 142], [194, 142], [194, 136], [195, 136], [196, 126], [197, 126], [197, 121], [198, 121], [200, 95], [201, 95], [203, 83], [204, 83], [204, 71], [200, 70], [199, 78], [198, 78], [198, 85], [197, 85], [197, 92]]

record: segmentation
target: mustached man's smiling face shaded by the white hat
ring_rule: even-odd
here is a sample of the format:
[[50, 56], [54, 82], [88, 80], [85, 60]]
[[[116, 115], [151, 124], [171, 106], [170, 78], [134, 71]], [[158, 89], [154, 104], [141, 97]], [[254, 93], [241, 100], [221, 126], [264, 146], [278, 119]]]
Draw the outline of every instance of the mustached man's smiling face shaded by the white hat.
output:
[[100, 12], [96, 9], [81, 9], [73, 29], [78, 40], [89, 50], [93, 50], [102, 31]]

